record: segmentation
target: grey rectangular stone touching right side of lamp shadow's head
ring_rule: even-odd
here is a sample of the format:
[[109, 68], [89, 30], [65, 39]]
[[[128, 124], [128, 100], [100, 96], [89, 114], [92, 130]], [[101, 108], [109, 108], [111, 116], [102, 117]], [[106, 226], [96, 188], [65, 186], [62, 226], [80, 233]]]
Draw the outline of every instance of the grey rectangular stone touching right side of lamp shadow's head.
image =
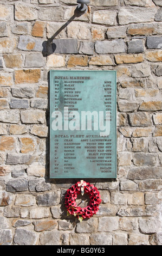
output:
[[78, 53], [77, 39], [54, 39], [53, 51], [55, 53]]

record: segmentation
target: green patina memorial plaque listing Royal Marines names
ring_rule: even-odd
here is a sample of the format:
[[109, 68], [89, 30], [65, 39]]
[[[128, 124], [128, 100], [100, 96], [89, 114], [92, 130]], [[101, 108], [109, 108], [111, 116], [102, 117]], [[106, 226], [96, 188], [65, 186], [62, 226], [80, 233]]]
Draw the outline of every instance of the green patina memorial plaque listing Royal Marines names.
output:
[[50, 71], [50, 178], [116, 178], [116, 71]]

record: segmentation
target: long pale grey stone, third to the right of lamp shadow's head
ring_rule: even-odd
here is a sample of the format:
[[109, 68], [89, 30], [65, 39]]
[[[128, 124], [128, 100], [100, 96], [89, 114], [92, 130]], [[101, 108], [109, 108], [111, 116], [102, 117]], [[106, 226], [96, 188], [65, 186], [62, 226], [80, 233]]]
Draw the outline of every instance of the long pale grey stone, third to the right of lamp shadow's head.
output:
[[126, 44], [123, 39], [112, 41], [96, 41], [95, 51], [99, 54], [126, 52]]

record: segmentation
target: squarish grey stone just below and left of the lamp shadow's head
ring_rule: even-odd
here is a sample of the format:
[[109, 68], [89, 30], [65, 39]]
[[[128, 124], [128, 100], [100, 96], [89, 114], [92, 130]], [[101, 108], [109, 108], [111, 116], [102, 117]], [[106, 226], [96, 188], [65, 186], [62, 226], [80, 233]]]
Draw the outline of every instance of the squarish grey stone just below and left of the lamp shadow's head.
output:
[[40, 53], [26, 55], [25, 68], [40, 68], [46, 65], [46, 59]]

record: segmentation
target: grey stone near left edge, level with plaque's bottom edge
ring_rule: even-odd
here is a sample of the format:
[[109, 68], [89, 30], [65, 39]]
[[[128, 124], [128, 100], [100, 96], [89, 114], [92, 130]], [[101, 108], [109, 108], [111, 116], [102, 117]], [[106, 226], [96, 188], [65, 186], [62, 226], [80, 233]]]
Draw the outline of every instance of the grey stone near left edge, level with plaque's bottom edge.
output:
[[27, 179], [13, 179], [7, 183], [7, 191], [27, 191], [28, 190], [28, 180]]

